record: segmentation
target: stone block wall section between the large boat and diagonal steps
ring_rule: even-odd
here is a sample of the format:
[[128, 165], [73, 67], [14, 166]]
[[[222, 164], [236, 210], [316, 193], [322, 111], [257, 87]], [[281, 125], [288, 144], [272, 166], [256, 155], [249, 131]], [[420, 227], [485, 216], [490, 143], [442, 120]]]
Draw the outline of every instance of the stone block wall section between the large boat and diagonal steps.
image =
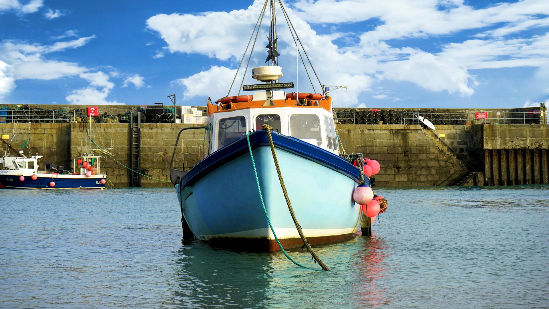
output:
[[464, 165], [440, 152], [419, 125], [338, 125], [347, 153], [360, 152], [379, 161], [382, 169], [372, 176], [376, 186], [438, 186], [459, 179]]

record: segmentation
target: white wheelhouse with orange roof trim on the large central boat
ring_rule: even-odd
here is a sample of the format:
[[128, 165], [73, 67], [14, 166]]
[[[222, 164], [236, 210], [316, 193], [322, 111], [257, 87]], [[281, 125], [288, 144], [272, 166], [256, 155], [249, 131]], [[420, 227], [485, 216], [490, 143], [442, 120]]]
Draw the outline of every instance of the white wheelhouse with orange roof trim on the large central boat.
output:
[[339, 153], [330, 97], [277, 90], [272, 91], [272, 99], [266, 98], [265, 92], [228, 98], [218, 100], [217, 105], [208, 104], [208, 153], [231, 144], [248, 131], [261, 130], [264, 124], [281, 134]]

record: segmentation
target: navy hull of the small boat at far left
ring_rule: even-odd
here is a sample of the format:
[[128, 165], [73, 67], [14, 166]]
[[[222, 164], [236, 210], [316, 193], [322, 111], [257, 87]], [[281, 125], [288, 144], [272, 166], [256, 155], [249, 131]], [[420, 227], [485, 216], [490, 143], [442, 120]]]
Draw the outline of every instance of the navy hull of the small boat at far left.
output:
[[[20, 176], [24, 176], [23, 181], [19, 180]], [[54, 174], [36, 174], [37, 179], [31, 179], [32, 174], [17, 174], [10, 170], [0, 170], [0, 189], [101, 189], [105, 185], [101, 183], [101, 179], [105, 179], [105, 175], [54, 175]], [[49, 186], [53, 181], [55, 185]]]

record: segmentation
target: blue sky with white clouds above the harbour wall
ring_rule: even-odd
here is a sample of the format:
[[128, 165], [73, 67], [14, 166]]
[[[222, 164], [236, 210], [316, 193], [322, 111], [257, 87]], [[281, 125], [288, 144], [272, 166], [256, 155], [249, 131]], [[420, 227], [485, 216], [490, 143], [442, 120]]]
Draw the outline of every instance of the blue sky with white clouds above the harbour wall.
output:
[[[0, 0], [0, 103], [153, 104], [176, 93], [204, 105], [227, 94], [263, 2]], [[284, 3], [323, 84], [349, 86], [331, 93], [335, 106], [549, 99], [549, 1]], [[312, 92], [277, 16], [282, 81]], [[267, 29], [264, 20], [245, 84], [265, 60]]]

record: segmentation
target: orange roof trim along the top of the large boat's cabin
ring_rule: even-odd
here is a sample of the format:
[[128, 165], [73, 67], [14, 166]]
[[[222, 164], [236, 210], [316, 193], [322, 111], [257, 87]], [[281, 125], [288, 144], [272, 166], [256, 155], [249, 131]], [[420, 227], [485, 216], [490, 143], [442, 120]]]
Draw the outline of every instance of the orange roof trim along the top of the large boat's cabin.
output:
[[[300, 100], [302, 101], [302, 100]], [[265, 101], [244, 101], [236, 103], [220, 103], [212, 104], [208, 102], [208, 117], [214, 113], [230, 112], [236, 109], [245, 109], [245, 108], [260, 108], [260, 107], [320, 107], [326, 109], [326, 111], [332, 111], [332, 97], [323, 98], [321, 100], [306, 100], [307, 105], [298, 105], [298, 100], [292, 100], [287, 98], [285, 100], [273, 100], [271, 106], [263, 106]], [[317, 103], [316, 103], [317, 102]], [[318, 105], [315, 105], [318, 104]]]

